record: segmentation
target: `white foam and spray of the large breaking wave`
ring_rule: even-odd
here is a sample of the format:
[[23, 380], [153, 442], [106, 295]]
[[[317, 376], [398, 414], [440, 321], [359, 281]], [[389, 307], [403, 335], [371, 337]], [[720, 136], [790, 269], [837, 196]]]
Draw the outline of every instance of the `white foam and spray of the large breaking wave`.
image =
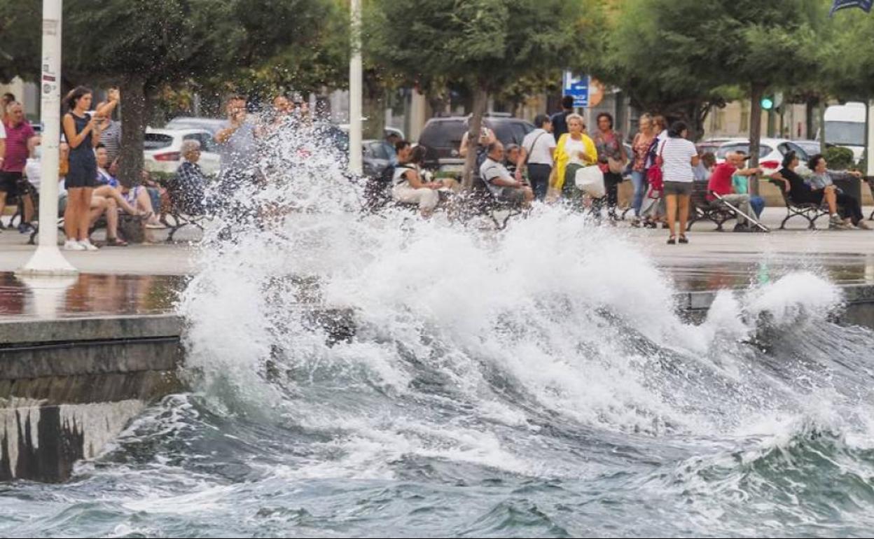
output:
[[[350, 211], [357, 185], [325, 155], [287, 163], [253, 193], [295, 210], [208, 243], [182, 305], [191, 366], [297, 425], [341, 432], [331, 443], [343, 460], [295, 473], [379, 476], [405, 453], [531, 470], [507, 440], [466, 429], [537, 432], [544, 417], [651, 435], [735, 428], [760, 410], [753, 386], [769, 384], [742, 348], [762, 315], [819, 323], [841, 301], [828, 281], [796, 273], [720, 293], [703, 324], [686, 323], [669, 276], [579, 214], [541, 206], [502, 232], [406, 211], [364, 217]], [[347, 309], [356, 336], [328, 342], [303, 296]], [[790, 386], [771, 386], [773, 410]], [[423, 445], [421, 432], [445, 439]]]

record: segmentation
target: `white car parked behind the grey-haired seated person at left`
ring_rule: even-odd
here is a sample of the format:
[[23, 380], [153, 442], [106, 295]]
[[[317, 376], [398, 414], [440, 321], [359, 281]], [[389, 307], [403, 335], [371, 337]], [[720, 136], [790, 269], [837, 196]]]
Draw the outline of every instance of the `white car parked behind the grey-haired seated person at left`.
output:
[[174, 174], [182, 164], [182, 142], [200, 142], [200, 169], [206, 176], [218, 174], [221, 157], [216, 151], [212, 133], [206, 129], [153, 129], [146, 128], [143, 140], [143, 159], [149, 172]]

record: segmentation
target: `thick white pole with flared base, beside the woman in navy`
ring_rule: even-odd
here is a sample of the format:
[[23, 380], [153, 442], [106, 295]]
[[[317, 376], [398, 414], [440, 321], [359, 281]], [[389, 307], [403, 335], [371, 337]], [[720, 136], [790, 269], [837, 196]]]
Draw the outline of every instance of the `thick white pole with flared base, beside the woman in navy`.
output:
[[39, 185], [39, 243], [37, 251], [17, 273], [70, 275], [74, 268], [58, 249], [58, 161], [60, 142], [61, 2], [43, 0], [42, 172]]

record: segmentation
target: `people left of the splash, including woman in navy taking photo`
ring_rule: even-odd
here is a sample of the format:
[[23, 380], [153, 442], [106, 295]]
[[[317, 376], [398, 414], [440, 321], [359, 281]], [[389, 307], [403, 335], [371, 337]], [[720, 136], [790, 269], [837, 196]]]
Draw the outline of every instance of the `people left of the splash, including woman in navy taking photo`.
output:
[[[94, 226], [101, 221], [106, 228], [105, 246], [128, 245], [128, 238], [148, 239], [148, 229], [166, 226], [162, 211], [169, 206], [167, 190], [142, 171], [136, 184], [121, 182], [119, 162], [121, 122], [113, 113], [121, 101], [117, 88], [110, 88], [107, 100], [92, 107], [94, 94], [84, 86], [74, 88], [63, 101], [59, 148], [59, 215], [63, 217], [68, 251], [96, 251], [91, 241]], [[299, 101], [299, 100], [298, 100]], [[277, 96], [268, 121], [250, 118], [246, 98], [233, 96], [227, 102], [227, 124], [215, 135], [221, 155], [222, 184], [225, 192], [253, 176], [255, 139], [272, 135], [284, 122], [309, 121], [305, 103]], [[15, 96], [3, 96], [3, 121], [0, 122], [0, 215], [7, 201], [16, 200], [19, 212], [18, 231], [34, 231], [36, 200], [41, 184], [40, 136], [24, 119], [24, 109]], [[171, 182], [180, 206], [193, 215], [205, 212], [207, 178], [198, 161], [200, 142], [185, 140], [183, 162]], [[126, 216], [129, 216], [127, 218]], [[127, 226], [122, 227], [121, 224]], [[0, 221], [0, 228], [3, 222]], [[122, 234], [124, 228], [126, 233]]]

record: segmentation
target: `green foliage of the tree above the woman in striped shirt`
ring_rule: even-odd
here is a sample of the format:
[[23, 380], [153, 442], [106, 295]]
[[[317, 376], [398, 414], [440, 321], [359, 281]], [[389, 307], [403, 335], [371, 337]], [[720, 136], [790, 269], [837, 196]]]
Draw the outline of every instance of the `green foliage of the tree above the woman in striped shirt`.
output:
[[635, 106], [698, 131], [742, 86], [793, 86], [816, 73], [822, 0], [624, 0], [589, 71]]

